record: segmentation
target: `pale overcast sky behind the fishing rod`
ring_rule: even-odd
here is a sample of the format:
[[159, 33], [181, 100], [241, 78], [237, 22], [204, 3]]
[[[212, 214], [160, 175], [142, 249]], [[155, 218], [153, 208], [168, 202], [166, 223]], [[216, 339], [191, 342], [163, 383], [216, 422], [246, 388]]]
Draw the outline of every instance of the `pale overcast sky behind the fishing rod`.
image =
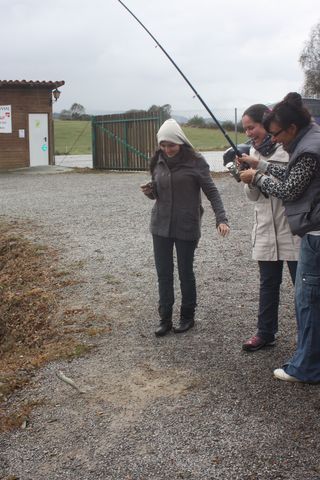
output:
[[[319, 0], [125, 0], [214, 113], [301, 91]], [[169, 103], [208, 116], [118, 0], [0, 0], [1, 79], [64, 80], [55, 111]]]

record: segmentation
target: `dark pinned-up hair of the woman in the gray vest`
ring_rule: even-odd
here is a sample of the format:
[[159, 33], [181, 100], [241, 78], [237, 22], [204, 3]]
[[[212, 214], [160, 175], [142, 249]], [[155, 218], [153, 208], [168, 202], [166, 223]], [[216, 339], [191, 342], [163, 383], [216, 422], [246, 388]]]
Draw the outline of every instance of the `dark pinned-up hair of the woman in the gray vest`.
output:
[[278, 123], [283, 129], [289, 128], [293, 124], [300, 131], [310, 125], [311, 114], [304, 107], [301, 95], [297, 92], [290, 92], [264, 118], [263, 126], [267, 131], [269, 131], [271, 122]]

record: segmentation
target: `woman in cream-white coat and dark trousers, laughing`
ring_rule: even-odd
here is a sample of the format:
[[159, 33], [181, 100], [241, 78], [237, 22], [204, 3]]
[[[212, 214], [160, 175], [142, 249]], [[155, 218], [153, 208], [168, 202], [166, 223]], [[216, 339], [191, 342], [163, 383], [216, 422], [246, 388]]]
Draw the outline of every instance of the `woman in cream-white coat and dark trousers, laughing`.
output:
[[[243, 128], [252, 142], [250, 156], [276, 165], [287, 165], [287, 152], [280, 144], [271, 141], [262, 124], [268, 112], [268, 107], [256, 104], [247, 108], [242, 116]], [[292, 235], [279, 198], [263, 195], [252, 184], [245, 185], [245, 193], [255, 202], [252, 258], [258, 261], [260, 288], [257, 333], [243, 344], [243, 349], [254, 352], [275, 343], [283, 263], [287, 262], [294, 283], [300, 239]]]

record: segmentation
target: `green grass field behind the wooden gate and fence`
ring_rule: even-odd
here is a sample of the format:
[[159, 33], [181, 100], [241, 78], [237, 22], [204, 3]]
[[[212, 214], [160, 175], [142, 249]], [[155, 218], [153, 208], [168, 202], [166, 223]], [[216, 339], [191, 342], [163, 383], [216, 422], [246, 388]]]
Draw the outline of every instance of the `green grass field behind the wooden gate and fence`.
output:
[[[184, 127], [185, 134], [196, 150], [225, 150], [229, 144], [220, 130], [211, 128]], [[228, 132], [235, 141], [234, 132]], [[87, 155], [91, 153], [91, 122], [72, 120], [55, 120], [55, 154]], [[238, 133], [238, 143], [246, 140], [243, 133]]]

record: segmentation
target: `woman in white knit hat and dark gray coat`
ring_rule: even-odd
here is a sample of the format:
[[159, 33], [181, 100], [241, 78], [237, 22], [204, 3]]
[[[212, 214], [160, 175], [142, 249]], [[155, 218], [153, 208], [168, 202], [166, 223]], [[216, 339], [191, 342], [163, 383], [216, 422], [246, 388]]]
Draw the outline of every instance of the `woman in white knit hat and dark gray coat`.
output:
[[201, 190], [212, 205], [219, 234], [227, 235], [229, 226], [209, 166], [178, 123], [173, 119], [164, 122], [157, 140], [159, 150], [150, 162], [152, 181], [141, 189], [155, 200], [150, 224], [159, 286], [160, 325], [155, 334], [163, 336], [172, 329], [174, 246], [181, 287], [180, 323], [174, 332], [186, 332], [194, 326], [197, 293], [193, 261], [203, 213]]

